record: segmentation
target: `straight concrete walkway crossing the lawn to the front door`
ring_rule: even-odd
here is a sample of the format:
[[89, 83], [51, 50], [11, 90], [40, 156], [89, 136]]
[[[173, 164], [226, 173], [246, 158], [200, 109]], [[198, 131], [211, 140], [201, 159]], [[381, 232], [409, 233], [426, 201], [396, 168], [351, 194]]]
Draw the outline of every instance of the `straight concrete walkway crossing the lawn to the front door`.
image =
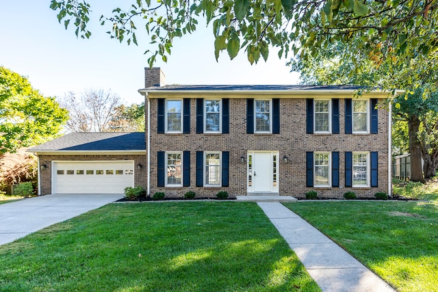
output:
[[359, 263], [301, 217], [279, 202], [258, 202], [323, 292], [394, 292], [385, 281]]

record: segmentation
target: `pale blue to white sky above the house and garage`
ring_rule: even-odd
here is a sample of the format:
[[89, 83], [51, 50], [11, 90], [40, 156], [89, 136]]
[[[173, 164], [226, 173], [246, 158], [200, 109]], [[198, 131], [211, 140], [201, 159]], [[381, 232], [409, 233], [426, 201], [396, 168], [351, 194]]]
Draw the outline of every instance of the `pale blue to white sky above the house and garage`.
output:
[[[144, 51], [155, 47], [146, 41], [142, 25], [137, 25], [137, 47], [111, 39], [110, 27], [99, 24], [101, 14], [109, 16], [124, 1], [88, 2], [92, 36], [83, 40], [76, 38], [73, 25], [66, 30], [58, 23], [50, 0], [0, 0], [0, 66], [28, 77], [44, 96], [93, 88], [111, 90], [128, 105], [141, 103], [138, 90], [144, 88], [148, 66]], [[167, 63], [160, 60], [154, 67], [162, 68], [166, 84], [297, 84], [298, 73], [290, 72], [277, 51], [253, 66], [243, 51], [233, 60], [224, 51], [216, 62], [211, 26], [199, 25], [194, 34], [175, 40]]]

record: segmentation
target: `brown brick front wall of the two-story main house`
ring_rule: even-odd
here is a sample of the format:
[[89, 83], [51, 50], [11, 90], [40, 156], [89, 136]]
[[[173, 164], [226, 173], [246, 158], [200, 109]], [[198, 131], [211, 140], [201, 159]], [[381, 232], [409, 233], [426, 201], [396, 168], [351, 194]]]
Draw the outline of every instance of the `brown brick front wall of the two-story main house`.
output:
[[[150, 96], [151, 97], [151, 96]], [[346, 191], [355, 191], [360, 197], [374, 197], [377, 191], [387, 192], [388, 175], [388, 113], [378, 110], [378, 134], [344, 134], [344, 99], [339, 105], [340, 134], [306, 134], [305, 98], [280, 99], [280, 134], [246, 133], [246, 99], [230, 99], [229, 134], [196, 134], [196, 99], [191, 100], [190, 134], [157, 134], [157, 99], [151, 98], [151, 195], [164, 191], [166, 196], [183, 196], [195, 191], [197, 196], [214, 197], [219, 190], [230, 196], [246, 195], [246, 157], [248, 150], [279, 151], [279, 194], [304, 198], [315, 189], [318, 196], [342, 198]], [[147, 127], [147, 125], [146, 125]], [[147, 138], [146, 138], [147, 139]], [[189, 150], [191, 187], [157, 187], [157, 151]], [[195, 187], [196, 151], [229, 151], [229, 187]], [[306, 151], [339, 151], [339, 185], [333, 188], [306, 187]], [[346, 151], [378, 152], [378, 187], [347, 188], [345, 186]], [[282, 157], [289, 161], [284, 163]]]

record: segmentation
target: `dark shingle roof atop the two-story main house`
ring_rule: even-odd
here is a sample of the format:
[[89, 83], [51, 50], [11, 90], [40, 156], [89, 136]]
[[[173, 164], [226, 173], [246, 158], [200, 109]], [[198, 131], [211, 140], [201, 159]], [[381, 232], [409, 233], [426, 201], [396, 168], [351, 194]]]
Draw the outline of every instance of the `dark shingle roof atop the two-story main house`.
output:
[[363, 86], [354, 85], [166, 85], [153, 86], [145, 90], [359, 90]]

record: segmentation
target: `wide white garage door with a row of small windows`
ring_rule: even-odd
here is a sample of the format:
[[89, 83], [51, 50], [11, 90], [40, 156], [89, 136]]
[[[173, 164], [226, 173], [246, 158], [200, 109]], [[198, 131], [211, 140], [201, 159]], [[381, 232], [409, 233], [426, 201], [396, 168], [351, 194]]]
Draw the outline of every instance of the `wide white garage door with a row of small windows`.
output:
[[54, 194], [123, 194], [134, 186], [133, 161], [53, 162]]

